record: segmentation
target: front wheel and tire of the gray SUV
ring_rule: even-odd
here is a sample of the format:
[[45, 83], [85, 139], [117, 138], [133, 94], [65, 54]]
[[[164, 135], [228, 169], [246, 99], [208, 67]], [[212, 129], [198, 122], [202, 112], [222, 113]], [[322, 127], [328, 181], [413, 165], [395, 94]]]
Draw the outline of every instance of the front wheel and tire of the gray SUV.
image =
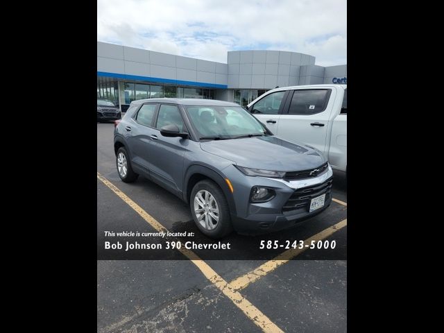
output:
[[201, 180], [194, 186], [189, 206], [197, 228], [206, 236], [219, 239], [232, 232], [227, 199], [211, 180]]

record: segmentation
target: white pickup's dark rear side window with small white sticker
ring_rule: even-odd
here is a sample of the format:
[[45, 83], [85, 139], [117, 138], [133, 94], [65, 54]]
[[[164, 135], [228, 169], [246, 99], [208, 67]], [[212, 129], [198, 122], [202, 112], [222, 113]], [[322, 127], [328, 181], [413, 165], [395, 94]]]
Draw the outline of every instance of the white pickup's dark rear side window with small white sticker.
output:
[[316, 114], [327, 107], [330, 89], [295, 90], [291, 99], [289, 114]]

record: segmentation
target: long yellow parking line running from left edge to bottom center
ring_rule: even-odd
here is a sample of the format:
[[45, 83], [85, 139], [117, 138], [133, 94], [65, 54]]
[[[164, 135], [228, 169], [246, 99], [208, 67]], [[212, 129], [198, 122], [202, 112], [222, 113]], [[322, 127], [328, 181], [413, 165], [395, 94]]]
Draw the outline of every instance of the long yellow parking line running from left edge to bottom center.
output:
[[[137, 205], [133, 200], [131, 200], [126, 194], [124, 194], [120, 189], [115, 187], [112, 182], [110, 182], [105, 177], [101, 176], [101, 174], [97, 173], [97, 178], [103, 182], [107, 187], [109, 187], [114, 194], [119, 196], [125, 202], [128, 204], [137, 214], [142, 216], [142, 219], [144, 219], [146, 222], [148, 222], [149, 225], [151, 225], [155, 230], [157, 231], [167, 231], [167, 228], [165, 228], [162, 224], [157, 222], [153, 216], [145, 212], [145, 210]], [[270, 318], [265, 316], [262, 311], [257, 309], [253, 304], [250, 303], [244, 296], [242, 296], [238, 291], [234, 290], [232, 285], [216, 273], [213, 268], [211, 268], [206, 262], [204, 262], [202, 259], [196, 255], [191, 250], [187, 250], [185, 248], [178, 249], [180, 253], [185, 255], [188, 259], [195, 264], [199, 270], [205, 275], [205, 278], [210, 280], [210, 282], [218, 288], [222, 293], [230, 298], [230, 300], [233, 302], [234, 305], [236, 305], [244, 314], [253, 321], [259, 328], [262, 329], [263, 332], [266, 333], [283, 333], [283, 331], [273, 323]]]

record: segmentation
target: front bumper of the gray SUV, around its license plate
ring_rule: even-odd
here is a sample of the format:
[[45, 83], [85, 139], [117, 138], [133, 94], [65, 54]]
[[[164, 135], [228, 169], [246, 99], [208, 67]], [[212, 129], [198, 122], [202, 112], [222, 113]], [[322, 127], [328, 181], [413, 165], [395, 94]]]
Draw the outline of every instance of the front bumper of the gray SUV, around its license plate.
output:
[[[235, 173], [231, 173], [234, 177]], [[286, 181], [243, 174], [232, 180], [228, 176], [233, 183], [232, 195], [236, 205], [236, 211], [231, 214], [233, 228], [241, 234], [260, 234], [291, 228], [316, 216], [332, 202], [332, 176], [330, 165], [321, 175], [302, 180]], [[275, 191], [275, 196], [266, 203], [252, 203], [250, 190], [253, 186], [271, 188]], [[324, 206], [309, 212], [311, 198], [322, 194], [325, 194]]]

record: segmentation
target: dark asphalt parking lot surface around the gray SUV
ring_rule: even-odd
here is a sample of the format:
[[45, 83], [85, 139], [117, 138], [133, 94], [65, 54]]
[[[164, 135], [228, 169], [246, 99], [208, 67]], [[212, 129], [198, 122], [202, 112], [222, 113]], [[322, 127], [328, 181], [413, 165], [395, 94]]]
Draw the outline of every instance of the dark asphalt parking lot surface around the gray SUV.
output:
[[[154, 232], [152, 220], [167, 230], [191, 230], [203, 237], [189, 207], [176, 196], [144, 178], [133, 184], [121, 182], [113, 130], [112, 123], [97, 124], [98, 246], [103, 246], [104, 230]], [[293, 251], [279, 262], [268, 257], [245, 259], [258, 252], [252, 248], [255, 237], [232, 234], [235, 251], [230, 260], [205, 259], [205, 253], [195, 251], [203, 260], [191, 261], [193, 254], [177, 250], [169, 251], [171, 257], [164, 260], [98, 260], [97, 332], [346, 332], [343, 176], [334, 176], [333, 198], [332, 205], [309, 223], [262, 239], [321, 235], [336, 241], [334, 251]], [[273, 257], [284, 252], [278, 250]]]

